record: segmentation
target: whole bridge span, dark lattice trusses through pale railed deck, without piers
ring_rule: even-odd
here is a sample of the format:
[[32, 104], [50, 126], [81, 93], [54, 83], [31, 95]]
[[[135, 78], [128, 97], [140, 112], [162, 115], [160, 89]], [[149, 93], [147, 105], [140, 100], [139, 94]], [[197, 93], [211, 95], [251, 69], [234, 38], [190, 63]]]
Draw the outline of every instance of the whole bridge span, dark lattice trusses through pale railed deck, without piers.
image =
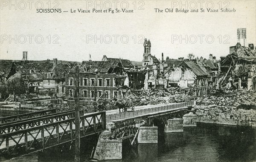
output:
[[[134, 112], [116, 113], [117, 110], [84, 114], [80, 111], [81, 138], [106, 130], [106, 123], [114, 122], [114, 138], [134, 137], [134, 123], [156, 115], [188, 110], [194, 103], [152, 105]], [[75, 112], [56, 112], [55, 109], [0, 118], [0, 154], [16, 157], [47, 148], [72, 143], [75, 140]], [[127, 131], [123, 131], [122, 127]], [[121, 131], [120, 131], [121, 130]], [[122, 133], [120, 133], [122, 132]], [[118, 134], [118, 135], [117, 135]]]

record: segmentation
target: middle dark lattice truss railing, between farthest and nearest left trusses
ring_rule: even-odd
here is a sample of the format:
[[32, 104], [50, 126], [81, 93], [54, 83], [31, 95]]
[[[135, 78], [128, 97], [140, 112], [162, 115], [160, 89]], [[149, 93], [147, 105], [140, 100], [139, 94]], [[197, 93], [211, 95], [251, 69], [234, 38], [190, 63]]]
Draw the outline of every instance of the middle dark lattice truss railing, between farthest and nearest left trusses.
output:
[[[80, 111], [81, 116], [84, 111]], [[41, 126], [48, 123], [58, 122], [75, 117], [75, 111], [59, 112], [54, 114], [45, 115], [42, 117], [32, 117], [26, 120], [17, 120], [15, 122], [4, 123], [0, 125], [0, 134], [6, 134], [13, 131], [19, 131], [22, 129], [32, 128], [35, 126]]]

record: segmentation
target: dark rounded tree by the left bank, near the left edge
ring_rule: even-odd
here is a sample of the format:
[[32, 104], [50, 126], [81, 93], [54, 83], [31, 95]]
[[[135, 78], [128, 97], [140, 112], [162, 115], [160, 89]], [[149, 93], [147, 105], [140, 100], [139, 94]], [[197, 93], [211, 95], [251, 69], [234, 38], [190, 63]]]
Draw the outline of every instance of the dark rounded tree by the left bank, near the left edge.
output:
[[15, 101], [15, 95], [25, 94], [27, 90], [27, 84], [21, 78], [20, 73], [12, 75], [6, 82], [7, 90], [9, 94], [13, 94], [13, 101]]

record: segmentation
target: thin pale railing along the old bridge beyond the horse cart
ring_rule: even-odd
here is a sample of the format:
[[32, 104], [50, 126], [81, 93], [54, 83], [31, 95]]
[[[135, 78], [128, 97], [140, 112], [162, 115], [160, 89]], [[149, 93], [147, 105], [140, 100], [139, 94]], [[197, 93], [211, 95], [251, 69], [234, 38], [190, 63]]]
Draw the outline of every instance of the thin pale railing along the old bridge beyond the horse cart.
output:
[[121, 113], [121, 114], [111, 114], [106, 116], [106, 120], [118, 120], [122, 118], [128, 118], [128, 117], [135, 117], [135, 116], [140, 116], [144, 114], [149, 114], [153, 112], [161, 112], [161, 111], [166, 111], [166, 110], [172, 110], [172, 109], [177, 109], [177, 108], [182, 108], [182, 107], [187, 107], [187, 106], [193, 106], [194, 101], [186, 102], [186, 103], [177, 103], [173, 105], [165, 105], [165, 106], [157, 106], [157, 107], [152, 107], [148, 109], [142, 109], [142, 110], [137, 110], [134, 112], [126, 112], [126, 113]]

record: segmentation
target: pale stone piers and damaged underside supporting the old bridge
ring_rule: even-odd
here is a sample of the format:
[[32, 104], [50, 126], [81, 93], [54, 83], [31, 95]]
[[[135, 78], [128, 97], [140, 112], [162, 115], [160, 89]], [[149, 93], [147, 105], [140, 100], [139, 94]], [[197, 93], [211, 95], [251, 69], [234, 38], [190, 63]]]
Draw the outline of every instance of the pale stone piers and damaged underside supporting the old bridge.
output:
[[157, 143], [159, 133], [182, 132], [183, 126], [196, 126], [196, 115], [190, 110], [178, 110], [147, 117], [107, 122], [93, 158], [99, 160], [122, 159], [122, 143], [131, 145]]

